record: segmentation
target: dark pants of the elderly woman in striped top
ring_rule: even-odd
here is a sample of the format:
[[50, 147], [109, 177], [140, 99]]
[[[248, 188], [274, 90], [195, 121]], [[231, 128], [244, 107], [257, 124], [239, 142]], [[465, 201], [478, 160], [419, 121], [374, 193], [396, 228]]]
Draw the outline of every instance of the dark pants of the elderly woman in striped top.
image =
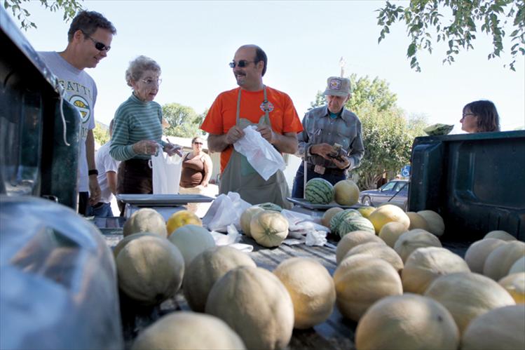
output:
[[[118, 194], [153, 194], [153, 172], [146, 159], [130, 159], [118, 166], [116, 193]], [[125, 205], [117, 201], [121, 216]]]

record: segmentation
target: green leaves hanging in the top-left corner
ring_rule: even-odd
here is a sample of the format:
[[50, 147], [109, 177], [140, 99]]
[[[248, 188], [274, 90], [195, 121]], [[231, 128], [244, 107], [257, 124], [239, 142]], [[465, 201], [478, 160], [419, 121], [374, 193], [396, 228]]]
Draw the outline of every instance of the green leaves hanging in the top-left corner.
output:
[[[4, 0], [4, 8], [6, 10], [11, 8], [13, 17], [20, 21], [20, 28], [27, 31], [30, 27], [36, 28], [36, 24], [29, 19], [31, 13], [25, 9], [25, 3], [29, 0]], [[81, 1], [83, 0], [39, 0], [41, 6], [46, 9], [56, 12], [58, 10], [64, 11], [64, 22], [72, 20], [76, 13], [82, 10]]]

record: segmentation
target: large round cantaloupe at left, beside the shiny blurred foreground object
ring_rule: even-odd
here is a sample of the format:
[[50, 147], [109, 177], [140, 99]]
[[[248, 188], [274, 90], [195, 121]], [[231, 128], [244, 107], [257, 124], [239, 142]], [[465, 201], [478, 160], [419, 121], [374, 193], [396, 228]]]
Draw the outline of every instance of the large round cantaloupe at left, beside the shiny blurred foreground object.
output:
[[142, 304], [160, 304], [182, 285], [184, 258], [161, 236], [132, 239], [116, 257], [118, 287]]

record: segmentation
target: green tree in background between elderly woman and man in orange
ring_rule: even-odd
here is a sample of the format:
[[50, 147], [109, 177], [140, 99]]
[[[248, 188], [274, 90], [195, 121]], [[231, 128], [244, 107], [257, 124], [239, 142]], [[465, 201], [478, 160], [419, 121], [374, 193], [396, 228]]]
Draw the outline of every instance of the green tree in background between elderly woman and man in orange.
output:
[[162, 107], [163, 117], [170, 126], [164, 130], [168, 136], [195, 137], [203, 135], [200, 124], [203, 123], [205, 113], [197, 114], [193, 108], [179, 105], [178, 103], [168, 103]]

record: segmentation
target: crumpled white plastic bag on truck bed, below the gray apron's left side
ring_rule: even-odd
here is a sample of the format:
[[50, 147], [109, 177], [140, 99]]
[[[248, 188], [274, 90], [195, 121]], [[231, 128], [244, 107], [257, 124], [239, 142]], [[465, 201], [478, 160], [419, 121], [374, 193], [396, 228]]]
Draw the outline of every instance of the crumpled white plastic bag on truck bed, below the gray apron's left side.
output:
[[243, 201], [237, 192], [228, 192], [215, 198], [203, 217], [203, 226], [210, 231], [227, 232], [228, 226], [234, 224], [240, 229], [240, 215], [252, 205]]

